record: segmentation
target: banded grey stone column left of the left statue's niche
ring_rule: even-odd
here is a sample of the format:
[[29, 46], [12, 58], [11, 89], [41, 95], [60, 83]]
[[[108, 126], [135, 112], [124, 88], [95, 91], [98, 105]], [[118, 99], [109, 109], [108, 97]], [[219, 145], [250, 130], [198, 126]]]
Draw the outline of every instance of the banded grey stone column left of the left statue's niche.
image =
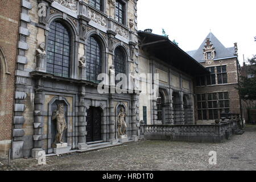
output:
[[35, 109], [34, 109], [34, 148], [32, 149], [32, 157], [38, 158], [38, 153], [43, 150], [43, 136], [42, 136], [42, 129], [43, 129], [43, 113], [42, 107], [44, 104], [43, 101], [43, 90], [37, 89], [35, 90]]

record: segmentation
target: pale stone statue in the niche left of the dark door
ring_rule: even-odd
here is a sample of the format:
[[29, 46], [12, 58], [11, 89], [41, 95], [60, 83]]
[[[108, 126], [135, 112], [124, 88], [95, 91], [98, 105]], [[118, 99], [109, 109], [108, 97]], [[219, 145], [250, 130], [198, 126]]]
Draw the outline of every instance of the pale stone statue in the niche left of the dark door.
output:
[[64, 104], [59, 104], [57, 106], [57, 110], [54, 111], [52, 120], [56, 119], [57, 122], [57, 135], [56, 135], [56, 143], [63, 143], [63, 132], [67, 129], [67, 123], [65, 121], [64, 114]]

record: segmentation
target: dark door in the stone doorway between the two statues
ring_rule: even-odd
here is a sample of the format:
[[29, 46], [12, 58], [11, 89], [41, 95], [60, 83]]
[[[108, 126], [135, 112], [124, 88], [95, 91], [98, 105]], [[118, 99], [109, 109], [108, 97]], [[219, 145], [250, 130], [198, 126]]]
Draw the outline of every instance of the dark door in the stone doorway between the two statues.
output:
[[86, 142], [101, 140], [101, 109], [90, 107], [87, 111]]

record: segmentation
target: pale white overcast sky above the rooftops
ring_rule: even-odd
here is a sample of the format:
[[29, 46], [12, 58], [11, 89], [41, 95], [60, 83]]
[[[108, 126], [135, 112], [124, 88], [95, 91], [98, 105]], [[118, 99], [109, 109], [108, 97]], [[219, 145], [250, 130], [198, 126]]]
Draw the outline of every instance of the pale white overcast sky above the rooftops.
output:
[[184, 51], [198, 49], [211, 30], [225, 47], [237, 42], [240, 64], [256, 54], [256, 0], [138, 0], [137, 14], [139, 30], [164, 28]]

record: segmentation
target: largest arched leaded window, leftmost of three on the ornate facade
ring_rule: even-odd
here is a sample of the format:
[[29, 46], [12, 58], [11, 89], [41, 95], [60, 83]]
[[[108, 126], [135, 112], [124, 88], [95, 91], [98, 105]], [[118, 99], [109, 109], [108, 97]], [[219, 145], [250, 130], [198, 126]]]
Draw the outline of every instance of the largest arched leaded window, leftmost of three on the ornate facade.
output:
[[71, 35], [60, 22], [49, 26], [47, 42], [47, 72], [69, 77], [71, 65]]

